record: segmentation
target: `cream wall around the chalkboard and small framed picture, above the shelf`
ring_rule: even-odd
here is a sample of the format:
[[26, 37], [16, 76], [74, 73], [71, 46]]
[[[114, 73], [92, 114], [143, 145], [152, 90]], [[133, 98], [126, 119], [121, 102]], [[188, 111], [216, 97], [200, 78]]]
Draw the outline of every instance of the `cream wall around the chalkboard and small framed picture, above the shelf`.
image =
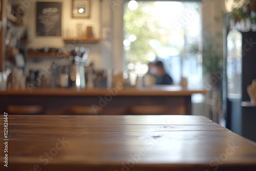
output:
[[[40, 2], [49, 2], [49, 0], [40, 0]], [[67, 29], [70, 29], [73, 36], [76, 36], [76, 26], [78, 23], [83, 25], [84, 32], [87, 26], [93, 27], [95, 37], [99, 37], [99, 1], [91, 1], [91, 15], [86, 19], [74, 19], [72, 18], [72, 1], [70, 0], [56, 0], [54, 2], [62, 3], [62, 15], [61, 15], [61, 37], [55, 36], [36, 36], [36, 2], [32, 2], [25, 13], [25, 25], [29, 27], [31, 43], [30, 47], [40, 46], [55, 46], [63, 47], [63, 38], [66, 37]]]

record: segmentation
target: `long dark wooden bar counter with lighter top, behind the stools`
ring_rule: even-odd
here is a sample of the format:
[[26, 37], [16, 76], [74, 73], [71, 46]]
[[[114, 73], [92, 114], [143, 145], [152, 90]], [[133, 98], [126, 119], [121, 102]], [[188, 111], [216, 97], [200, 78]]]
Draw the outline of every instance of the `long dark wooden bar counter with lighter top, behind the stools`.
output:
[[166, 114], [190, 115], [191, 95], [195, 93], [205, 94], [206, 91], [179, 86], [122, 89], [118, 84], [112, 89], [7, 90], [0, 92], [0, 108], [1, 112], [6, 112], [8, 105], [44, 105], [44, 114], [62, 115], [70, 114], [71, 105], [95, 106], [97, 109], [129, 109], [132, 105], [167, 106]]

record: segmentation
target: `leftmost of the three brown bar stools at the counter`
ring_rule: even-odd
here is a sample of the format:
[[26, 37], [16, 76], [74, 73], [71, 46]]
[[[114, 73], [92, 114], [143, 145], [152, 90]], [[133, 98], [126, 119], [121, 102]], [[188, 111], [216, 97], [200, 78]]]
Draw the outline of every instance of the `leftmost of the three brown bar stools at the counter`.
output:
[[8, 105], [8, 114], [14, 115], [39, 115], [44, 114], [44, 106], [42, 105]]

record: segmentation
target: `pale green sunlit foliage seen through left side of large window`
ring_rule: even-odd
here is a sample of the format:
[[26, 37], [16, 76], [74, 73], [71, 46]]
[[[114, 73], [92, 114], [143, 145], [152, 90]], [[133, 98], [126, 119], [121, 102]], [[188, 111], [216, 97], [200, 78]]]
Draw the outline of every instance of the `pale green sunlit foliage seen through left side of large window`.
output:
[[154, 6], [154, 2], [147, 3], [147, 5], [141, 2], [138, 4], [138, 9], [135, 11], [129, 10], [129, 8], [125, 8], [124, 10], [124, 37], [125, 39], [129, 39], [130, 35], [136, 37], [136, 40], [131, 42], [129, 48], [125, 49], [127, 63], [136, 63], [138, 61], [148, 63], [146, 54], [155, 52], [154, 48], [148, 42], [160, 36], [157, 32], [157, 18], [153, 16], [152, 11], [146, 10]]

